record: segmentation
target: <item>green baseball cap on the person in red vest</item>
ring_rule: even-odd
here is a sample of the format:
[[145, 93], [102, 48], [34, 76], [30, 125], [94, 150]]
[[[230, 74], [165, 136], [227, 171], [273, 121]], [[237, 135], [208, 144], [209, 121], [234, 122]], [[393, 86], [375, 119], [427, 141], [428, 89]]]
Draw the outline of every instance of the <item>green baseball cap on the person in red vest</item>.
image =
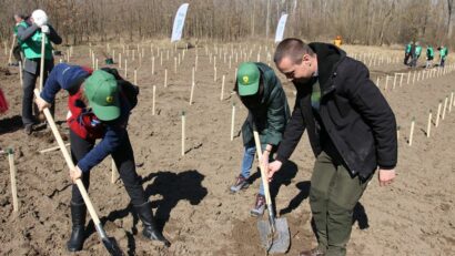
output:
[[111, 121], [120, 116], [119, 88], [112, 74], [97, 70], [84, 84], [85, 96], [98, 119]]

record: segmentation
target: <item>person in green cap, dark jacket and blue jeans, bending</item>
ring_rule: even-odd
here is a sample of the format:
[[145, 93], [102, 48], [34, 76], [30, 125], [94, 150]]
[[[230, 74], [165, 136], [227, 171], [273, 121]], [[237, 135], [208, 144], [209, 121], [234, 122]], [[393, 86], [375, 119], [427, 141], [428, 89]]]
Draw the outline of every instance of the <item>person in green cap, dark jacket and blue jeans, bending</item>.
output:
[[[242, 126], [244, 154], [241, 173], [231, 186], [231, 192], [249, 187], [250, 172], [254, 161], [256, 147], [253, 131], [256, 130], [263, 150], [263, 158], [267, 162], [280, 144], [284, 127], [290, 117], [286, 95], [275, 72], [264, 63], [244, 62], [240, 64], [234, 91], [249, 110], [249, 115]], [[260, 192], [251, 215], [260, 216], [264, 213], [265, 197], [261, 182]]]

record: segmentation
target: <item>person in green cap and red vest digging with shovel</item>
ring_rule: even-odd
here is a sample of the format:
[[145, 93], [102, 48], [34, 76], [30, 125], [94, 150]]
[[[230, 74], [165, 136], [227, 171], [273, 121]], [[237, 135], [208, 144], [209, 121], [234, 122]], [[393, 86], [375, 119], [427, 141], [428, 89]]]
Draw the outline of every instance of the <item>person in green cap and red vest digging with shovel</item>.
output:
[[[109, 71], [109, 72], [108, 72]], [[90, 170], [112, 155], [131, 203], [144, 229], [142, 234], [152, 240], [170, 242], [158, 229], [153, 219], [151, 203], [146, 199], [142, 180], [135, 172], [134, 154], [127, 131], [130, 111], [136, 103], [127, 89], [134, 88], [117, 73], [117, 70], [90, 70], [79, 65], [58, 64], [49, 74], [44, 90], [37, 104], [40, 111], [50, 107], [57, 92], [69, 92], [69, 115], [71, 156], [77, 164], [70, 171], [72, 181], [82, 178], [85, 188], [90, 185]], [[101, 142], [95, 144], [95, 140]], [[71, 218], [72, 233], [68, 250], [82, 249], [84, 240], [87, 207], [78, 186], [72, 186]]]

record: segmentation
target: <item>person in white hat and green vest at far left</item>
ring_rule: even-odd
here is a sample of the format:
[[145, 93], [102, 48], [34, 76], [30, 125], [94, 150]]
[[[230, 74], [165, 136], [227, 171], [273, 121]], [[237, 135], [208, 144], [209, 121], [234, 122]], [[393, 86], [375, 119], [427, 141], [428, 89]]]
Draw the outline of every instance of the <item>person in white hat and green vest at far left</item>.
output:
[[[34, 10], [30, 22], [21, 21], [18, 25], [18, 41], [24, 54], [23, 63], [23, 98], [22, 98], [22, 123], [26, 134], [30, 135], [33, 131], [36, 119], [33, 116], [33, 90], [37, 78], [40, 75], [41, 60], [41, 39], [42, 33], [47, 34], [44, 43], [44, 82], [48, 73], [53, 68], [52, 44], [62, 43], [62, 39], [57, 34], [52, 25], [48, 24], [48, 16], [43, 10]], [[53, 107], [51, 109], [53, 112]]]

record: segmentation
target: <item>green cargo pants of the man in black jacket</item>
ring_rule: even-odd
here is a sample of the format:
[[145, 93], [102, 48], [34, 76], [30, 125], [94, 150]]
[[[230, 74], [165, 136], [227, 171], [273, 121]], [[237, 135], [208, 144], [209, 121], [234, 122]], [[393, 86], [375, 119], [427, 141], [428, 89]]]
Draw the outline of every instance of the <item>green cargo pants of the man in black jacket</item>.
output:
[[346, 255], [353, 209], [373, 174], [360, 178], [322, 152], [311, 177], [310, 206], [316, 228], [318, 248], [327, 256]]

